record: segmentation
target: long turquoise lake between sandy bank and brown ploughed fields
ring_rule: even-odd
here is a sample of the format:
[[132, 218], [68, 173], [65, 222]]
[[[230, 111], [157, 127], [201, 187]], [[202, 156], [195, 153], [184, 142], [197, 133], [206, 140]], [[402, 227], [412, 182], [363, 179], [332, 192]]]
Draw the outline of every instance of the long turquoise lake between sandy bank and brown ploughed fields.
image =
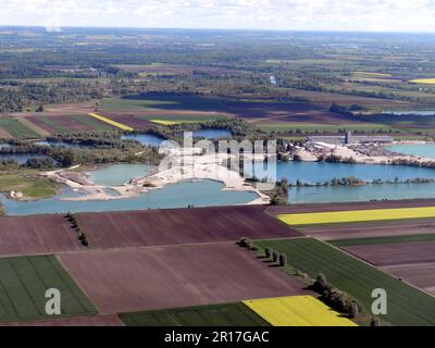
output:
[[0, 198], [7, 215], [187, 208], [189, 204], [194, 207], [234, 206], [258, 198], [253, 192], [224, 191], [222, 188], [224, 185], [221, 183], [203, 181], [169, 185], [161, 190], [152, 190], [136, 198], [107, 201], [60, 200], [61, 197], [78, 195], [71, 190], [64, 190], [59, 196], [38, 201], [16, 201], [5, 199], [2, 195]]

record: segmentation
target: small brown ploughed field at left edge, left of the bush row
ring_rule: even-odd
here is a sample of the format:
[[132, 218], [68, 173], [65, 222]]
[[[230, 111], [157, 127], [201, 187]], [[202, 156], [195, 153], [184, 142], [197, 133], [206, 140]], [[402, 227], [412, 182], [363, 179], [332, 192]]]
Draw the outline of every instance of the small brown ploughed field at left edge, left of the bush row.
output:
[[84, 250], [62, 215], [1, 216], [0, 256]]

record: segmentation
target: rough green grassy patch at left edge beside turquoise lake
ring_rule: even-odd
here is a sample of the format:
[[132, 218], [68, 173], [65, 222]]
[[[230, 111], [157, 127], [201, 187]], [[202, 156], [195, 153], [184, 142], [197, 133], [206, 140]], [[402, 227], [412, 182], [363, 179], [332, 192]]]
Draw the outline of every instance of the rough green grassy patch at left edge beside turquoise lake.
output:
[[4, 174], [0, 175], [0, 191], [23, 192], [24, 198], [40, 199], [57, 194], [58, 186], [52, 181], [41, 176]]

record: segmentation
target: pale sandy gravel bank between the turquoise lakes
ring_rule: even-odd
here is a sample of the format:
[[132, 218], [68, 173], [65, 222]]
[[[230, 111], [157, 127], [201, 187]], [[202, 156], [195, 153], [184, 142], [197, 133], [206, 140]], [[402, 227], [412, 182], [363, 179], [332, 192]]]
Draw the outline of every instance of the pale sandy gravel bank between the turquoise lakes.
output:
[[[79, 197], [63, 198], [71, 201], [133, 198], [150, 190], [162, 189], [171, 184], [210, 179], [223, 183], [225, 185], [224, 190], [257, 194], [259, 198], [248, 204], [268, 204], [270, 202], [269, 196], [248, 184], [238, 173], [229, 171], [221, 164], [227, 158], [226, 154], [199, 156], [198, 151], [194, 150], [192, 152], [196, 154], [187, 158], [182, 157], [179, 152], [174, 152], [166, 158], [167, 163], [171, 164], [166, 169], [161, 165], [158, 173], [130, 179], [122, 186], [101, 186], [90, 183], [87, 181], [85, 174], [73, 172], [79, 165], [66, 170], [45, 172], [41, 175], [66, 185], [73, 191], [83, 194]], [[264, 157], [252, 158], [252, 160], [263, 161]], [[113, 196], [110, 191], [115, 191], [119, 196]]]

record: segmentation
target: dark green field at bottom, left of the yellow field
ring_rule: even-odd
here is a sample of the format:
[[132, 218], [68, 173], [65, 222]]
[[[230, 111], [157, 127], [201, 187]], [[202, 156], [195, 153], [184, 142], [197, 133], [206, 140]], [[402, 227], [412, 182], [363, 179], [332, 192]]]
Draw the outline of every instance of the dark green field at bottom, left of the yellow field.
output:
[[243, 303], [120, 314], [127, 326], [269, 326]]

